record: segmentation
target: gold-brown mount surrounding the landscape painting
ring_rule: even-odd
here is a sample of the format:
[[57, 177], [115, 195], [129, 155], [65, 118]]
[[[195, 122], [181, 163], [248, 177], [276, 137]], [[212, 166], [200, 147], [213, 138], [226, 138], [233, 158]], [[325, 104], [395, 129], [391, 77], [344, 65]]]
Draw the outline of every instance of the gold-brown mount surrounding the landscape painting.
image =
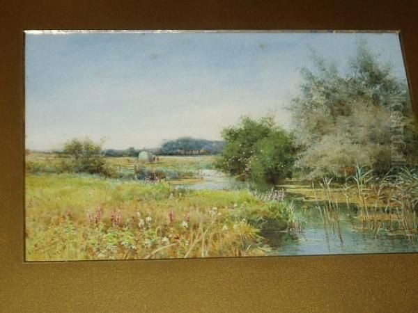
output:
[[1, 312], [392, 312], [417, 307], [418, 254], [24, 263], [22, 199], [24, 30], [400, 31], [417, 112], [418, 3], [5, 2], [0, 13]]

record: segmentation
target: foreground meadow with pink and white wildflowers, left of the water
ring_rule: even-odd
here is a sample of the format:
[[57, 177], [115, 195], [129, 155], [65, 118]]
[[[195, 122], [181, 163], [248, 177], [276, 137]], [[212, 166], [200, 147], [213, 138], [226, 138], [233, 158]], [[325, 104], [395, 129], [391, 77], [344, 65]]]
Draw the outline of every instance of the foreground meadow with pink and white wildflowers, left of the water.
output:
[[256, 225], [272, 212], [281, 227], [291, 220], [284, 206], [245, 190], [184, 191], [167, 182], [29, 174], [26, 260], [265, 255], [268, 246]]

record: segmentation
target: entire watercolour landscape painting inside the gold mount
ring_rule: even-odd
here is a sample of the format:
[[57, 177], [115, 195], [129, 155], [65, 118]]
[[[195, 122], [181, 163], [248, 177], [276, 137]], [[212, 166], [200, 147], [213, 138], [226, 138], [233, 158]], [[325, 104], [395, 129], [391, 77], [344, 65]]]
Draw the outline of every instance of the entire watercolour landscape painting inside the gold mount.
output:
[[26, 31], [25, 260], [418, 252], [396, 32]]

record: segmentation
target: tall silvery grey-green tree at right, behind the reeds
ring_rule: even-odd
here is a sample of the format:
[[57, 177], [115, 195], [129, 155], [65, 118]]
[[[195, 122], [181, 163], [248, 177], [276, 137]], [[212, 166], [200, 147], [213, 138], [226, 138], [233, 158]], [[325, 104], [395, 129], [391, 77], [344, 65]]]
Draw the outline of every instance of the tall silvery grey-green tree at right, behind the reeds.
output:
[[[381, 63], [364, 41], [345, 73], [320, 56], [314, 56], [314, 68], [302, 70], [300, 92], [290, 107], [295, 141], [301, 147], [297, 166], [311, 177], [343, 175], [357, 164], [387, 172], [394, 110], [405, 125], [412, 122], [405, 82], [396, 79], [392, 67]], [[416, 134], [410, 126], [405, 131], [408, 147], [416, 147]]]

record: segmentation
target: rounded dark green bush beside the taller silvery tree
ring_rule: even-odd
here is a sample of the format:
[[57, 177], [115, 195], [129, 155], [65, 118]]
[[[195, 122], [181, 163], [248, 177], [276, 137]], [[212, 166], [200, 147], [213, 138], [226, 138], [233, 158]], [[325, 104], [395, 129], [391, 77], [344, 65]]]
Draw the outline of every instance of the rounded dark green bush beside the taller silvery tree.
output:
[[272, 116], [252, 120], [243, 117], [240, 124], [222, 131], [226, 141], [217, 168], [242, 180], [276, 184], [291, 177], [295, 149], [291, 137], [275, 125]]

